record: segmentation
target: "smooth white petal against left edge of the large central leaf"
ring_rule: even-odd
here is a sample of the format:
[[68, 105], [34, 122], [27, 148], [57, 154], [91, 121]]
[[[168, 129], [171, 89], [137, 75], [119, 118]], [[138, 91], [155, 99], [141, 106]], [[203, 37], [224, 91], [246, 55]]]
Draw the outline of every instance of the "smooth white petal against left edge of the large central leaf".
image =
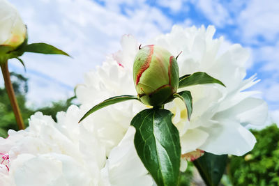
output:
[[102, 170], [103, 178], [110, 185], [142, 186], [153, 185], [151, 176], [146, 171], [134, 146], [135, 128], [129, 127], [118, 146], [112, 149], [107, 164]]

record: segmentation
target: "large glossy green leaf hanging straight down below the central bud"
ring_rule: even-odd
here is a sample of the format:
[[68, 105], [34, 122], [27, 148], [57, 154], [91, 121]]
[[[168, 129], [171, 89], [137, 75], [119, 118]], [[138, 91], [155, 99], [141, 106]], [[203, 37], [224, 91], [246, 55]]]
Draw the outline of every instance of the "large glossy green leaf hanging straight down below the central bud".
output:
[[137, 154], [158, 186], [175, 186], [179, 180], [181, 146], [172, 116], [165, 109], [145, 109], [131, 121]]

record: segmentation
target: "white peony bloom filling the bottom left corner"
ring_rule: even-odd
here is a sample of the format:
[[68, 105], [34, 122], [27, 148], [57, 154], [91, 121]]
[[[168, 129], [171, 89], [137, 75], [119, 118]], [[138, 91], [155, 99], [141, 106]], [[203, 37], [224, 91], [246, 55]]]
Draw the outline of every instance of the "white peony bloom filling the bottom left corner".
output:
[[[105, 148], [96, 138], [95, 130], [87, 128], [91, 121], [77, 122], [84, 114], [78, 107], [69, 107], [57, 114], [55, 123], [50, 116], [36, 113], [26, 130], [8, 132], [0, 139], [3, 162], [0, 185], [61, 186], [61, 185], [153, 185], [153, 180], [135, 153], [131, 128], [123, 140], [112, 148], [108, 158]], [[130, 167], [133, 166], [133, 171]], [[128, 175], [129, 179], [118, 179]]]

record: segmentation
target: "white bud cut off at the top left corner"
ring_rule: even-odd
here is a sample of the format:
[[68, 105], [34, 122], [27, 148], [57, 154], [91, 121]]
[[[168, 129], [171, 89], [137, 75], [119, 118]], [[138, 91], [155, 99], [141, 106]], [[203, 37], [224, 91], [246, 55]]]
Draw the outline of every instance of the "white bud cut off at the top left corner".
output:
[[26, 34], [26, 26], [15, 7], [7, 0], [0, 0], [0, 45], [17, 47]]

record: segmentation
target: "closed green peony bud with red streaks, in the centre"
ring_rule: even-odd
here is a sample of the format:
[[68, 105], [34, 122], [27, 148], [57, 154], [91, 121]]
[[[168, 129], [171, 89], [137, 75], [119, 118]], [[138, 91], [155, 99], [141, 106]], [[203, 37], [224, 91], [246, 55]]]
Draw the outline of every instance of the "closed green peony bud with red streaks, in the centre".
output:
[[144, 46], [135, 57], [133, 79], [137, 94], [144, 104], [165, 104], [179, 86], [176, 58], [162, 47]]

